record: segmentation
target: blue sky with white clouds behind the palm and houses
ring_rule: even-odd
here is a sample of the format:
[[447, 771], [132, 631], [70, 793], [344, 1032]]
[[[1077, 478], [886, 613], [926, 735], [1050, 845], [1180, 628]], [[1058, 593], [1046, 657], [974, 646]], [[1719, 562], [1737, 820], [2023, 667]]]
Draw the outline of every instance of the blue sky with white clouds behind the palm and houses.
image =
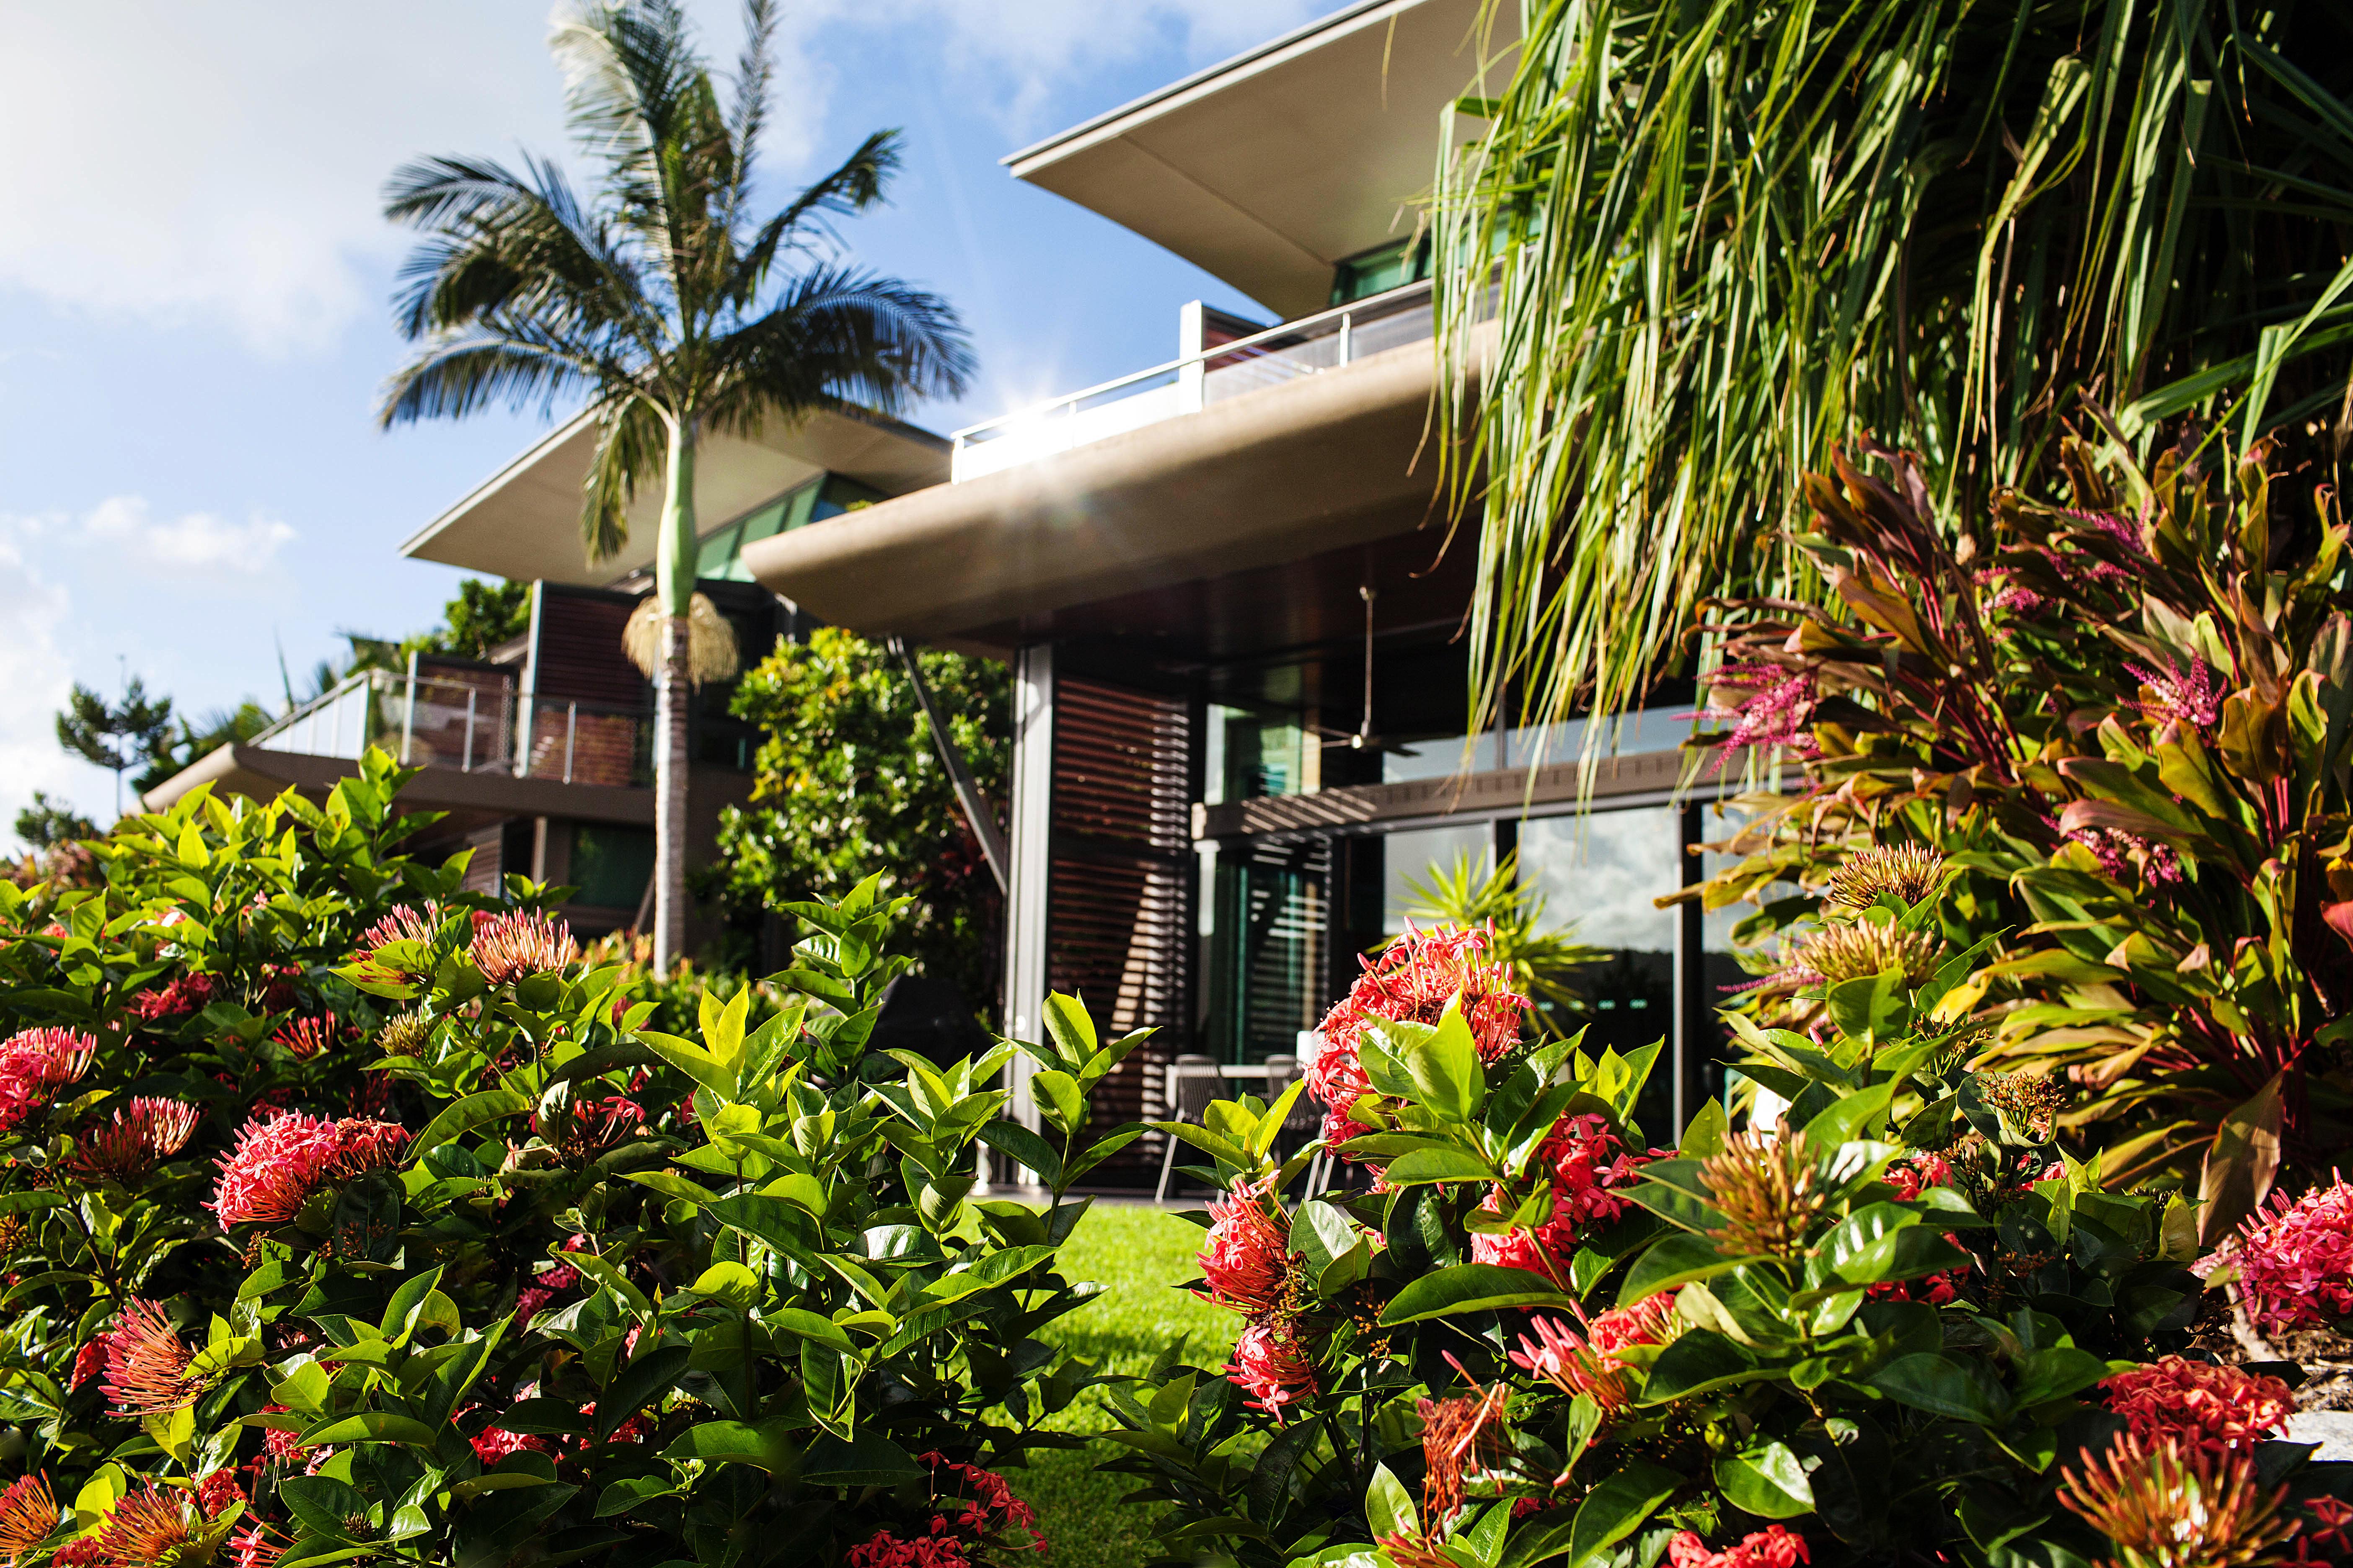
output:
[[[715, 59], [736, 7], [689, 0]], [[1224, 284], [998, 158], [1329, 9], [1327, 0], [809, 0], [788, 7], [767, 176], [906, 132], [892, 209], [849, 254], [948, 296], [981, 362], [948, 430], [1174, 353]], [[0, 0], [0, 844], [31, 792], [108, 820], [68, 759], [71, 682], [120, 670], [191, 710], [275, 705], [339, 630], [438, 618], [456, 571], [409, 531], [536, 418], [384, 435], [386, 296], [409, 235], [376, 212], [419, 153], [562, 150], [544, 0], [311, 7]], [[1257, 313], [1264, 315], [1264, 313]]]

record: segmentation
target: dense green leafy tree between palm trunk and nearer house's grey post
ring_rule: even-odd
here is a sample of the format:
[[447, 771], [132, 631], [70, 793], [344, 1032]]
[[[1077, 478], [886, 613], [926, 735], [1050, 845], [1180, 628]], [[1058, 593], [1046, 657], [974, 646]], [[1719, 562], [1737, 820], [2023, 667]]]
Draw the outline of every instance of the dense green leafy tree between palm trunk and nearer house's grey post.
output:
[[[984, 799], [1005, 799], [1012, 677], [988, 658], [927, 649], [922, 679]], [[901, 947], [953, 980], [976, 1013], [998, 997], [1002, 900], [899, 661], [854, 632], [779, 644], [736, 686], [767, 731], [751, 804], [720, 818], [722, 893], [753, 907], [835, 898], [873, 867], [911, 898]]]

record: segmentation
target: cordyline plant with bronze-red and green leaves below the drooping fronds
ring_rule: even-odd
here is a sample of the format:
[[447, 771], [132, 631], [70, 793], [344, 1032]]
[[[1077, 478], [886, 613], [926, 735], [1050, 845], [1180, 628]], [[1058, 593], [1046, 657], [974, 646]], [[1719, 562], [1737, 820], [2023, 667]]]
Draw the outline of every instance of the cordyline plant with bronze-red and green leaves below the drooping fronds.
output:
[[2111, 1175], [2202, 1171], [2214, 1241], [2353, 1131], [2346, 524], [2264, 444], [2118, 451], [2068, 440], [2064, 505], [2000, 494], [1986, 550], [1948, 548], [1908, 454], [1807, 480], [1795, 543], [1842, 611], [1722, 607], [1732, 729], [1694, 741], [1784, 748], [1802, 785], [1746, 802], [1701, 898], [1795, 884], [1744, 933], [1791, 936], [1852, 858], [1941, 853], [1925, 936], [2000, 938], [1981, 1058], [2082, 1086], [2066, 1124]]

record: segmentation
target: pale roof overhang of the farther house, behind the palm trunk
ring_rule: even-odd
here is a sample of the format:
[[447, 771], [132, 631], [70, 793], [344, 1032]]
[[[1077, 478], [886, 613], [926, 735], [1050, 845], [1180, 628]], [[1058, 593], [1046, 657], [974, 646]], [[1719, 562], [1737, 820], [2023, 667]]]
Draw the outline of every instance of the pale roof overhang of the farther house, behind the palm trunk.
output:
[[[400, 552], [520, 583], [616, 583], [654, 559], [661, 487], [638, 491], [628, 545], [591, 567], [581, 550], [581, 484], [593, 454], [595, 421], [581, 414], [419, 529]], [[708, 534], [821, 473], [896, 496], [946, 482], [948, 444], [894, 418], [849, 414], [816, 414], [800, 425], [772, 421], [758, 440], [713, 435], [694, 463], [696, 524]]]

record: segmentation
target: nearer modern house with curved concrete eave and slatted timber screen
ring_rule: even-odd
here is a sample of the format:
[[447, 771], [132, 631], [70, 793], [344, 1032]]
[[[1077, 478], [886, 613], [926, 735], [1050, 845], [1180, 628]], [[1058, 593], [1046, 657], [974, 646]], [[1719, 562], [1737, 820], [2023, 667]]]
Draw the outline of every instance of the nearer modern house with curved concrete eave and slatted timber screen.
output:
[[[1508, 9], [1508, 7], [1506, 7]], [[1468, 733], [1475, 541], [1440, 550], [1414, 195], [1473, 89], [1475, 0], [1362, 0], [1005, 160], [1266, 308], [1186, 306], [1172, 357], [960, 430], [946, 482], [748, 543], [805, 611], [1012, 661], [1009, 1030], [1047, 990], [1155, 1025], [1153, 1063], [1299, 1048], [1409, 882], [1518, 853], [1612, 950], [1593, 1039], [1673, 1041], [1654, 1135], [1708, 1091], [1689, 691], [1581, 780], [1581, 724]], [[1508, 38], [1501, 40], [1508, 45]]]

